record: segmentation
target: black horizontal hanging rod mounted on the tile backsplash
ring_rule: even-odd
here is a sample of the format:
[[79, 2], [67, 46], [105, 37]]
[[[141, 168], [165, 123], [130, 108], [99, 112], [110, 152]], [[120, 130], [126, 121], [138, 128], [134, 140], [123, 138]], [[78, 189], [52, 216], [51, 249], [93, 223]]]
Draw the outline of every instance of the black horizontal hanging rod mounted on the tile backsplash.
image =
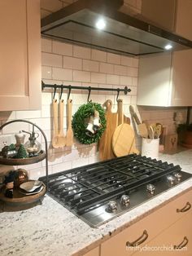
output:
[[124, 92], [124, 95], [127, 95], [128, 92], [131, 91], [131, 89], [128, 88], [128, 86], [125, 86], [124, 89], [120, 88], [98, 88], [98, 87], [92, 87], [92, 86], [64, 86], [64, 85], [47, 85], [44, 82], [41, 82], [41, 90], [44, 90], [45, 88], [54, 88], [54, 89], [76, 89], [76, 90], [111, 90], [111, 91], [117, 91], [117, 93], [120, 93], [120, 91]]

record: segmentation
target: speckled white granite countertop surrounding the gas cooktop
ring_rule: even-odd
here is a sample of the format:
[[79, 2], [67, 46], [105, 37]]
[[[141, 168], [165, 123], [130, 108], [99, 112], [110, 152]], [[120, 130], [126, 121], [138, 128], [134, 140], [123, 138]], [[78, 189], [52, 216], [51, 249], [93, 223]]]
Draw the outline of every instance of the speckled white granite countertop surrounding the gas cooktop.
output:
[[[191, 153], [192, 150], [185, 150], [159, 158], [192, 173]], [[89, 227], [50, 196], [45, 196], [42, 205], [0, 214], [0, 255], [83, 255], [190, 188], [192, 179], [98, 228]]]

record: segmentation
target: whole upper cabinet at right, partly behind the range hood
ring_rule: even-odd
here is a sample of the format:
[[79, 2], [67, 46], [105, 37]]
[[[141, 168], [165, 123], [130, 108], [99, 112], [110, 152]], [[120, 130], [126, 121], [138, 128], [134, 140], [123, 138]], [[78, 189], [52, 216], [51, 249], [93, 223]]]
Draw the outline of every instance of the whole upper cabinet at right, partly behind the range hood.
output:
[[[143, 8], [145, 2], [143, 0]], [[161, 2], [155, 0], [154, 2]], [[172, 1], [172, 8], [168, 5], [171, 20], [162, 27], [174, 30], [175, 33], [192, 40], [192, 1]], [[157, 5], [158, 6], [158, 5]], [[165, 17], [168, 20], [168, 13], [164, 4]], [[145, 7], [146, 8], [146, 7]], [[145, 8], [143, 10], [145, 10]], [[147, 9], [147, 8], [146, 8]], [[172, 13], [171, 10], [176, 10]], [[147, 13], [147, 12], [146, 12]], [[151, 19], [157, 19], [155, 24], [160, 24], [160, 9], [153, 9]], [[144, 15], [144, 14], [143, 14]], [[174, 20], [174, 23], [172, 22]], [[163, 21], [162, 21], [163, 22]], [[172, 25], [174, 24], [174, 25]], [[158, 55], [147, 55], [139, 60], [137, 104], [146, 106], [192, 106], [192, 50], [176, 51]]]

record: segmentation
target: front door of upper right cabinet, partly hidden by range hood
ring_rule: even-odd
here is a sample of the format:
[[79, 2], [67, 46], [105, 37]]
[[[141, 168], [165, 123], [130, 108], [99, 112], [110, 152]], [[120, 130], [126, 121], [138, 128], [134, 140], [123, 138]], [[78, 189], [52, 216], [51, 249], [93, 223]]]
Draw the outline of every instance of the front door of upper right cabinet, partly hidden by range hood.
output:
[[[192, 40], [192, 1], [177, 1], [175, 32]], [[172, 55], [172, 106], [192, 106], [192, 50]]]

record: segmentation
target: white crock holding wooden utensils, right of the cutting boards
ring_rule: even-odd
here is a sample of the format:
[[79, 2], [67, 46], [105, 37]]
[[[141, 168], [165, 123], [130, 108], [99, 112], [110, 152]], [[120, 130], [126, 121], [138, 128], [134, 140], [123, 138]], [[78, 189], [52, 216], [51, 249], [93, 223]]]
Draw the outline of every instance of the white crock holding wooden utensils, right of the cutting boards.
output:
[[159, 158], [159, 139], [142, 138], [142, 156]]

